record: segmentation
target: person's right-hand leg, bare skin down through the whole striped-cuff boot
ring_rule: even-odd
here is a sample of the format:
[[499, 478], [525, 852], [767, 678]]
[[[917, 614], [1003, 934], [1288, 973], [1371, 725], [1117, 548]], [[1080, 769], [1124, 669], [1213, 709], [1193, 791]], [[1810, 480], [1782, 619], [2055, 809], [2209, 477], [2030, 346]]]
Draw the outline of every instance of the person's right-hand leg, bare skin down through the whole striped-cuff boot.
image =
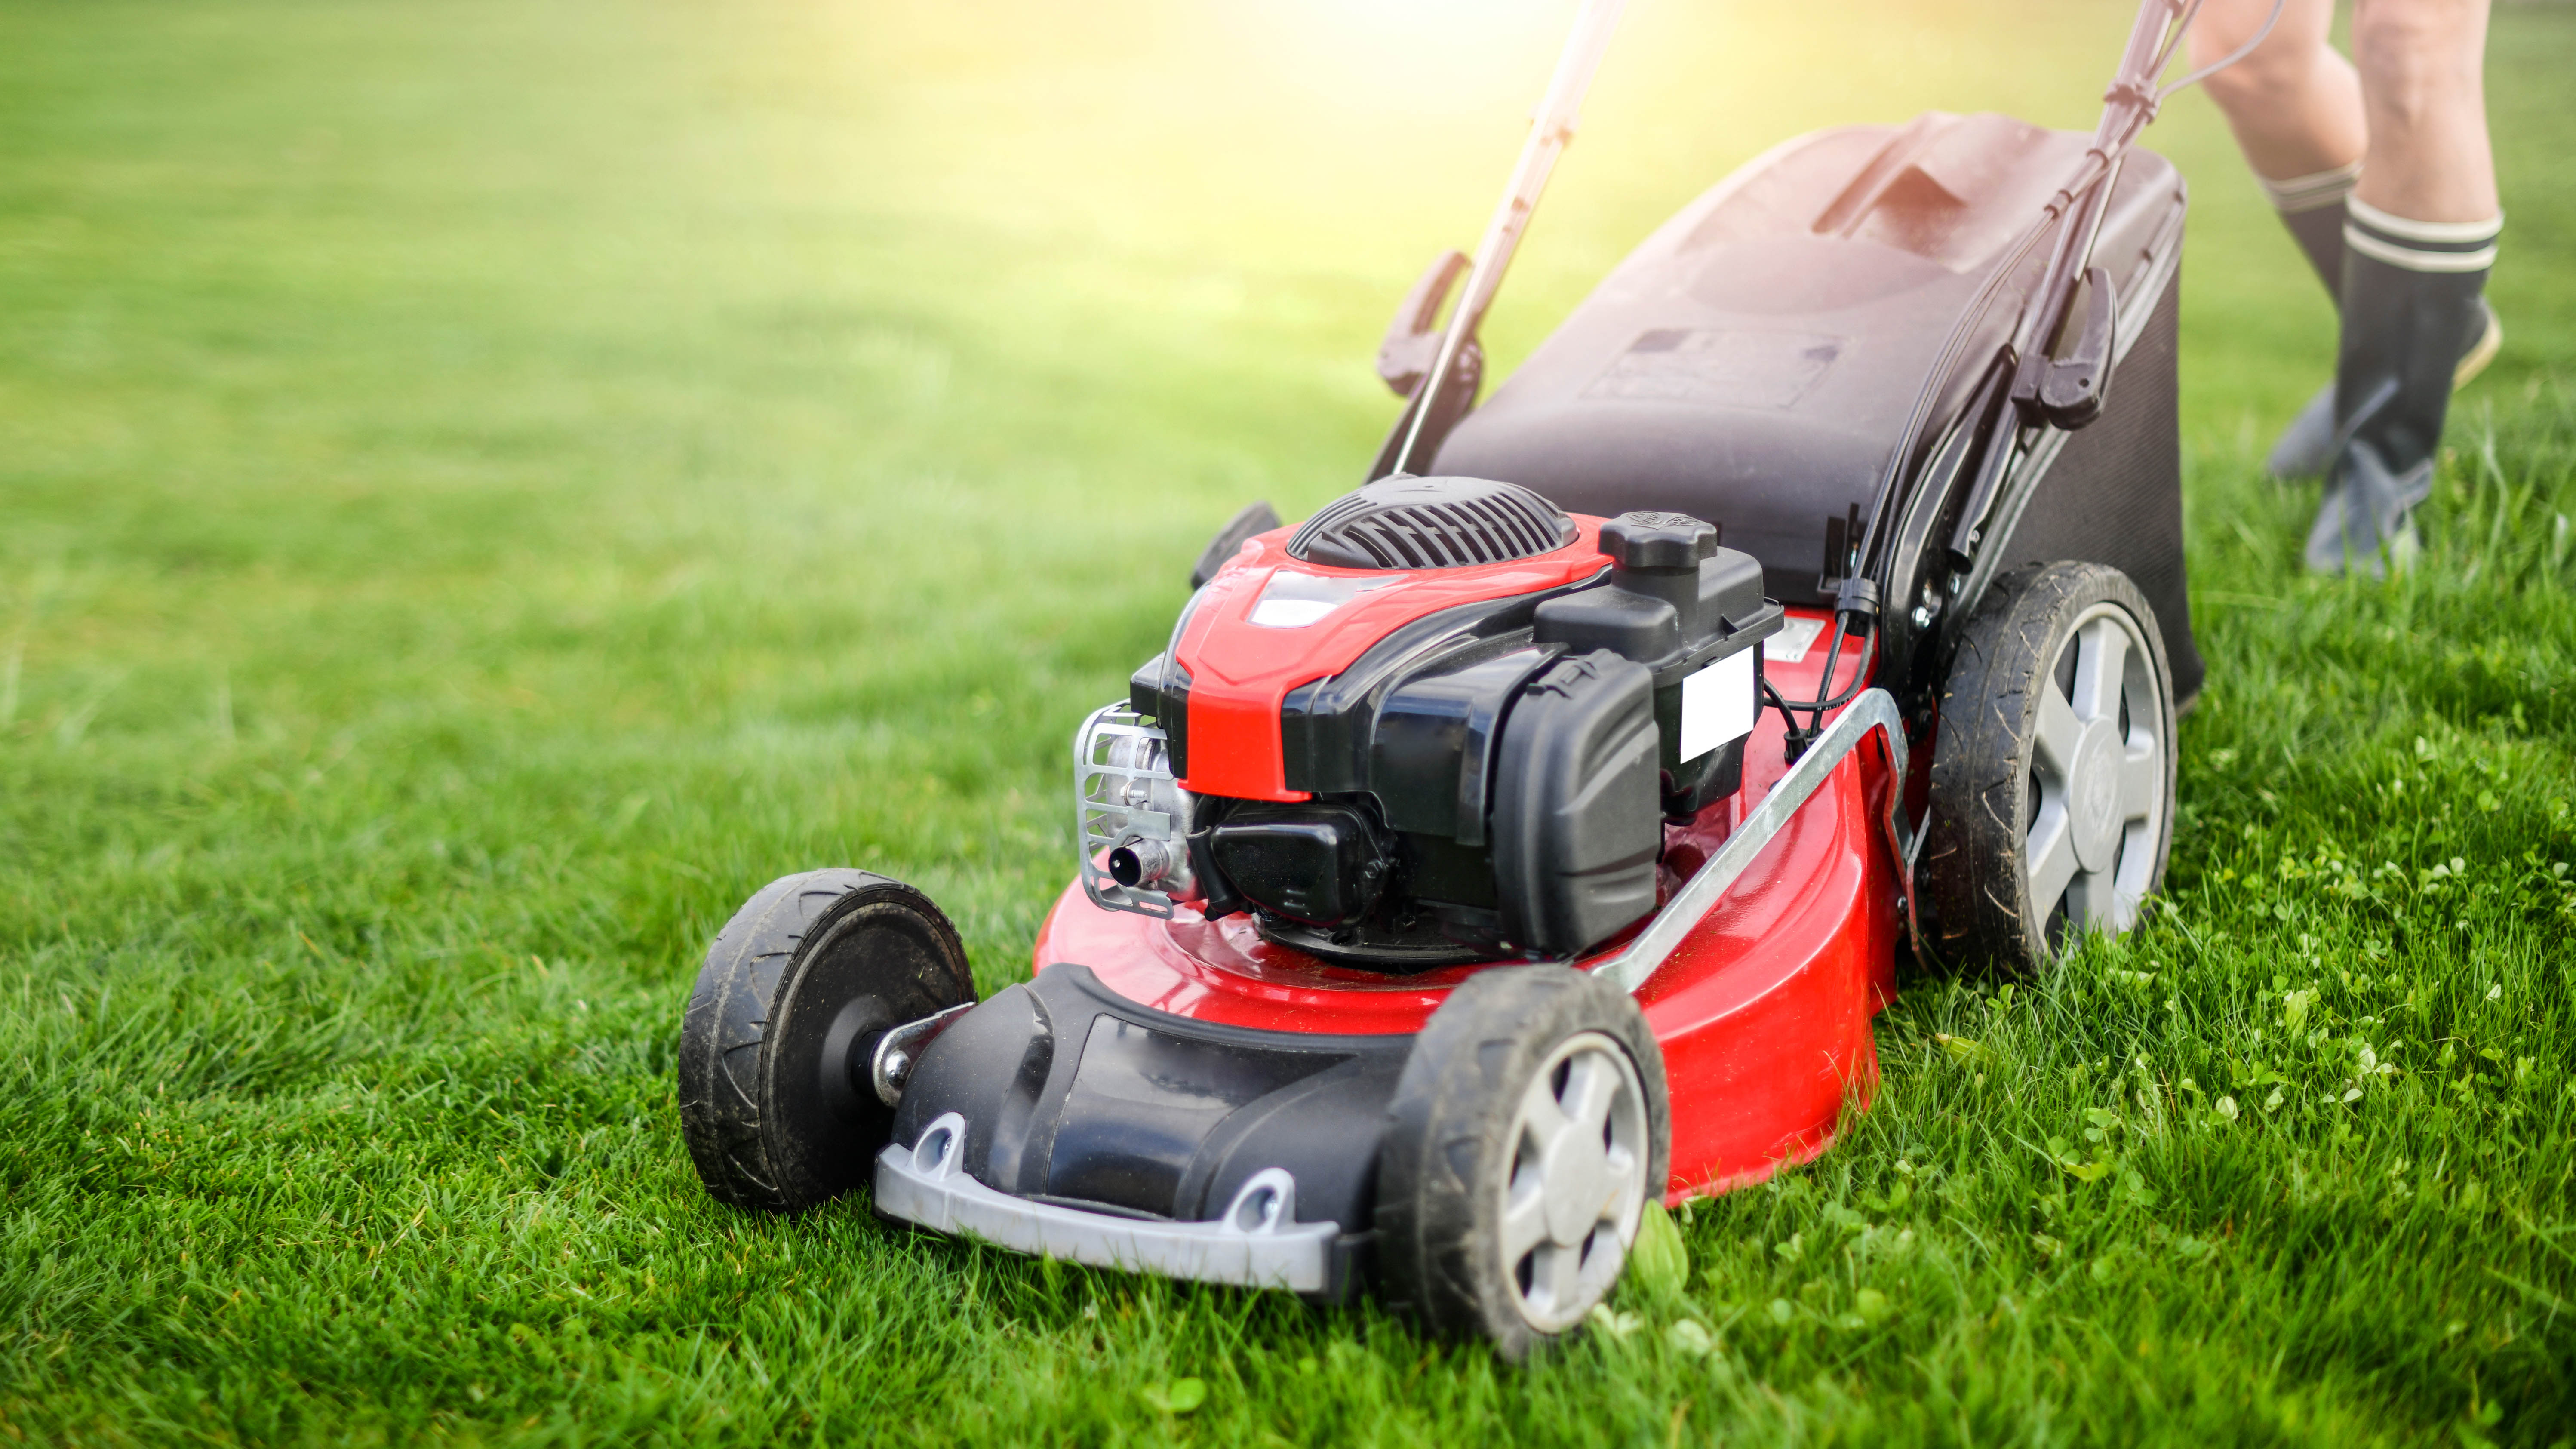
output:
[[2460, 358], [2494, 317], [2481, 302], [2504, 217], [2486, 139], [2488, 0], [2360, 0], [2352, 49], [2370, 168], [2344, 209], [2336, 456], [2308, 567], [2339, 572], [2414, 547]]

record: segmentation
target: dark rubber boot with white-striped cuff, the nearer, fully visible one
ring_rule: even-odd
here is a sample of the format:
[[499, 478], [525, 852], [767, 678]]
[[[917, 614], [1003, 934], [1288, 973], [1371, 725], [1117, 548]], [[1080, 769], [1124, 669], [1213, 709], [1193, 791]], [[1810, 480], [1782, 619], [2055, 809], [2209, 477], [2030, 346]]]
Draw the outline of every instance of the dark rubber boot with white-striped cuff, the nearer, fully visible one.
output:
[[2491, 222], [2409, 222], [2344, 199], [2344, 338], [2334, 358], [2334, 464], [2308, 529], [2308, 567], [2383, 575], [2416, 549], [2460, 358], [2486, 322]]

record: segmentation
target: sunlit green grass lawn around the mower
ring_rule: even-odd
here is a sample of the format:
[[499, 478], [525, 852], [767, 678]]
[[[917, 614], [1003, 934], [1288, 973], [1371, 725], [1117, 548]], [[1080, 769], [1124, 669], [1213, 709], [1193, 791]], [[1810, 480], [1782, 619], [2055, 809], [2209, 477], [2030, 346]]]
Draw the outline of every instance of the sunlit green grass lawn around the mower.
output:
[[[2331, 317], [2208, 103], [2156, 126], [2172, 910], [1906, 980], [1878, 1104], [1625, 1338], [1504, 1369], [701, 1194], [716, 923], [868, 864], [1028, 972], [1066, 730], [1216, 521], [1355, 482], [1561, 10], [0, 8], [0, 1439], [2566, 1444], [2566, 8], [2496, 15], [2509, 340], [2393, 585], [2298, 572], [2254, 462]], [[1638, 5], [1499, 356], [1798, 129], [2089, 124], [2123, 23]]]

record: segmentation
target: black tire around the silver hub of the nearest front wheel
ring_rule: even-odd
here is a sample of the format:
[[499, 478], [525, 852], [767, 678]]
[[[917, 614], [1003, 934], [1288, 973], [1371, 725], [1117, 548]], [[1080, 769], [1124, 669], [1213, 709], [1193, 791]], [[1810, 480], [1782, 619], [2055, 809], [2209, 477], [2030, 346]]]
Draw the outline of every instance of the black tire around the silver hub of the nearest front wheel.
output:
[[1636, 1000], [1566, 967], [1494, 967], [1461, 982], [1414, 1039], [1378, 1147], [1378, 1281], [1386, 1305], [1453, 1338], [1489, 1338], [1507, 1361], [1540, 1333], [1512, 1299], [1502, 1261], [1502, 1189], [1512, 1119], [1551, 1052], [1584, 1031], [1636, 1065], [1646, 1109], [1646, 1191], [1672, 1165], [1664, 1052]]

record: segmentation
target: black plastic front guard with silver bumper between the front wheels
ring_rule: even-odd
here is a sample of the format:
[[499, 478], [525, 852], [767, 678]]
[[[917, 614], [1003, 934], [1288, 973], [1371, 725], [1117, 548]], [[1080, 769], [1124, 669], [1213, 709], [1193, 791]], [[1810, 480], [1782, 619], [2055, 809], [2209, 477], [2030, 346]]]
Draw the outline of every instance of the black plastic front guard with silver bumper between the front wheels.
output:
[[1376, 1127], [1409, 1047], [1172, 1016], [1054, 962], [922, 1052], [876, 1207], [1023, 1253], [1334, 1299], [1373, 1240]]

